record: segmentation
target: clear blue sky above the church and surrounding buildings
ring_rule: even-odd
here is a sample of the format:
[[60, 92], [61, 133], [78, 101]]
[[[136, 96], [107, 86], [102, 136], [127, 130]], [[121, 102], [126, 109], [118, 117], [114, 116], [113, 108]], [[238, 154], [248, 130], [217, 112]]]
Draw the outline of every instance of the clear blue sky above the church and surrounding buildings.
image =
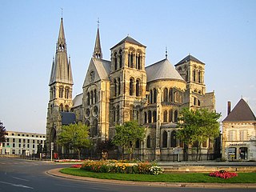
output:
[[49, 78], [60, 18], [71, 57], [74, 96], [94, 50], [103, 58], [129, 34], [146, 46], [146, 66], [188, 54], [206, 63], [208, 92], [226, 117], [244, 98], [256, 113], [256, 1], [0, 1], [0, 120], [6, 130], [46, 133]]

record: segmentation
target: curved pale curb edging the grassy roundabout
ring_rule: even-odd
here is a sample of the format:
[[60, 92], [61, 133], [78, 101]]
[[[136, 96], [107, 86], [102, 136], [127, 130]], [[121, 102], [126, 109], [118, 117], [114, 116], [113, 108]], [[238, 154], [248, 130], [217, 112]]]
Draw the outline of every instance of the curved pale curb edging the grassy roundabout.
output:
[[119, 181], [111, 179], [99, 179], [99, 178], [86, 178], [79, 177], [70, 174], [62, 174], [59, 172], [62, 168], [48, 170], [47, 174], [50, 174], [59, 178], [68, 178], [74, 180], [82, 180], [86, 182], [104, 182], [112, 185], [137, 185], [137, 186], [158, 186], [158, 187], [186, 187], [186, 188], [242, 188], [242, 189], [253, 189], [256, 188], [256, 184], [252, 183], [191, 183], [191, 182], [132, 182], [132, 181]]

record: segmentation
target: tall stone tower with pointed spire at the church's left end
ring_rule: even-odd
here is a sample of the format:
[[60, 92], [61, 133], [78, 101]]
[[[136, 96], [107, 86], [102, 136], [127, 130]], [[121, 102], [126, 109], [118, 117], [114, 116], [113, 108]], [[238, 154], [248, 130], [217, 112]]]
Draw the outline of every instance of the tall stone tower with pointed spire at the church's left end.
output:
[[51, 142], [54, 142], [54, 150], [57, 150], [56, 138], [62, 127], [62, 116], [60, 112], [70, 112], [70, 108], [73, 105], [73, 77], [70, 58], [67, 57], [63, 18], [61, 18], [56, 53], [50, 73], [49, 86], [50, 99], [48, 102], [46, 122], [46, 145], [48, 151], [50, 151]]

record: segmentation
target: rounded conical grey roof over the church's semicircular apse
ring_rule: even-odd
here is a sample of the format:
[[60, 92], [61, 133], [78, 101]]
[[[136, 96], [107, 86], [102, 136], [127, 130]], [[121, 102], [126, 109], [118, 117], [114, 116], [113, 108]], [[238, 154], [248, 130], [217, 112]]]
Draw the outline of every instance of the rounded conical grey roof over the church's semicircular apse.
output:
[[167, 58], [146, 67], [146, 82], [152, 82], [158, 79], [176, 79], [184, 81]]

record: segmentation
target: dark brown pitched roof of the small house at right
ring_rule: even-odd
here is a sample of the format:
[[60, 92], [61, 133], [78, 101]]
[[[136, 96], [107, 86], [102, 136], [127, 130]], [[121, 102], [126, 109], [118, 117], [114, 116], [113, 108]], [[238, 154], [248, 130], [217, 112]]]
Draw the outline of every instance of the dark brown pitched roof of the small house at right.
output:
[[255, 122], [256, 118], [250, 106], [243, 98], [238, 102], [230, 114], [223, 120], [223, 122]]

